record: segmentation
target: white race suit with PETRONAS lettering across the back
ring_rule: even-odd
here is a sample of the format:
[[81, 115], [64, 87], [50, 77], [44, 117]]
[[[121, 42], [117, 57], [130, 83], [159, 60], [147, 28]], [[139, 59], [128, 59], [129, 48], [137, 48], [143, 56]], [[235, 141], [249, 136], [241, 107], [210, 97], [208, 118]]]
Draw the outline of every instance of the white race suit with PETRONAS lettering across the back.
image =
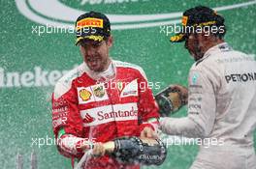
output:
[[226, 42], [208, 49], [188, 77], [188, 116], [163, 118], [171, 135], [196, 138], [192, 169], [256, 168], [256, 61]]

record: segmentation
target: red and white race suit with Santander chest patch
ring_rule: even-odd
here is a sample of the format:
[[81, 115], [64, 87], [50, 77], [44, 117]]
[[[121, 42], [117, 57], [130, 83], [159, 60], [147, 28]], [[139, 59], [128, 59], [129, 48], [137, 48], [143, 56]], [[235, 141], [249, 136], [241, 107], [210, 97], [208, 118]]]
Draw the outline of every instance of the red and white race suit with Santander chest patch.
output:
[[[112, 61], [104, 72], [85, 63], [64, 75], [52, 95], [52, 126], [60, 154], [80, 158], [82, 142], [108, 142], [116, 137], [140, 136], [144, 127], [156, 127], [158, 106], [144, 71], [135, 65]], [[153, 121], [154, 120], [154, 121]], [[90, 158], [88, 169], [137, 169], [110, 155]]]

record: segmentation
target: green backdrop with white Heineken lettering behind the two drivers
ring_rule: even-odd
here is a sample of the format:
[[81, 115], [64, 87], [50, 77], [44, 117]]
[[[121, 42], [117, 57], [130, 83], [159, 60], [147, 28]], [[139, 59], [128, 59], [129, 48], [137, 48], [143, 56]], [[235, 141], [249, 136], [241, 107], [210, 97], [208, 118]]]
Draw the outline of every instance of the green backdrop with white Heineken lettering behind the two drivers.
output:
[[[178, 23], [184, 10], [196, 5], [215, 8], [226, 18], [226, 41], [233, 48], [256, 53], [256, 1], [180, 0], [0, 0], [0, 168], [16, 168], [23, 155], [29, 168], [30, 154], [40, 169], [71, 168], [58, 155], [52, 138], [50, 95], [56, 80], [82, 62], [72, 29], [54, 32], [47, 25], [73, 27], [86, 11], [108, 14], [112, 21], [113, 59], [144, 68], [148, 80], [186, 85], [193, 61], [183, 44], [169, 42], [160, 25]], [[39, 26], [45, 26], [45, 33]], [[163, 28], [163, 27], [162, 27]], [[47, 33], [48, 31], [48, 33]], [[153, 89], [154, 94], [159, 89]], [[176, 117], [186, 115], [182, 108]], [[45, 144], [38, 145], [41, 138]], [[48, 139], [48, 142], [47, 142]], [[37, 144], [36, 144], [37, 143]], [[164, 164], [157, 168], [187, 169], [197, 146], [171, 146]], [[232, 151], [232, 150], [231, 150]], [[154, 167], [145, 167], [154, 168]]]

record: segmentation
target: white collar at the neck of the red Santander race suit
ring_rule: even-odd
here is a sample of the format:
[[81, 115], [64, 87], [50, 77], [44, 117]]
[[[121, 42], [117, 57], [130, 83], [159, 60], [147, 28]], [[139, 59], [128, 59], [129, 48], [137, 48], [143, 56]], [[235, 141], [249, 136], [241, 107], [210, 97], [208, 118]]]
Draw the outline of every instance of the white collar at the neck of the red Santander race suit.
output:
[[92, 79], [94, 79], [98, 82], [107, 82], [107, 81], [111, 80], [112, 78], [114, 78], [115, 74], [116, 74], [116, 69], [113, 64], [113, 61], [111, 61], [109, 68], [102, 72], [90, 70], [84, 62], [83, 62], [82, 68]]

